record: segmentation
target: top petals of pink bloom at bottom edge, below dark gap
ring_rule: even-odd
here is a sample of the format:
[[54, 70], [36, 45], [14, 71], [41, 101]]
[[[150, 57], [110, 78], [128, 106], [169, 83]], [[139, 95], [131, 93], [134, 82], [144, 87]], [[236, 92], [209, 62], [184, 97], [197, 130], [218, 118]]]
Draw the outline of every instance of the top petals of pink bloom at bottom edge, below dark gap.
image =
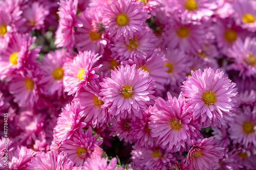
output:
[[122, 170], [122, 167], [116, 168], [117, 159], [113, 158], [108, 164], [108, 157], [101, 158], [100, 156], [95, 157], [94, 159], [88, 159], [87, 162], [84, 162], [82, 170]]

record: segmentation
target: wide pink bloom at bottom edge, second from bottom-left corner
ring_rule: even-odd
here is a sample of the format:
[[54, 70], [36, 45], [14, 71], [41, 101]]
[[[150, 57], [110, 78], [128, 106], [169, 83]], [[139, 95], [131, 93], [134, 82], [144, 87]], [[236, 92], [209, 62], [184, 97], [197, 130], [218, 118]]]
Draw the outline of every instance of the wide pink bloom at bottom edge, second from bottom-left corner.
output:
[[31, 170], [45, 170], [45, 169], [56, 169], [56, 170], [72, 170], [73, 162], [67, 158], [67, 154], [63, 152], [54, 153], [53, 151], [48, 153], [39, 153], [31, 159], [29, 168]]

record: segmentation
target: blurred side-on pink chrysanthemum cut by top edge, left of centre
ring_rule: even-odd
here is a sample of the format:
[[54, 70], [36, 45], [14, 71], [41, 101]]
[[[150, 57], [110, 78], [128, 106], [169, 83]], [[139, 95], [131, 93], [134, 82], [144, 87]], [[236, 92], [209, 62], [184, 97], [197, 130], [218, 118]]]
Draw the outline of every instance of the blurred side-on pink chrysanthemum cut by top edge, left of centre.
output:
[[67, 47], [73, 51], [75, 43], [75, 27], [82, 27], [76, 20], [78, 0], [61, 0], [59, 3], [59, 26], [56, 31], [55, 44], [58, 47]]

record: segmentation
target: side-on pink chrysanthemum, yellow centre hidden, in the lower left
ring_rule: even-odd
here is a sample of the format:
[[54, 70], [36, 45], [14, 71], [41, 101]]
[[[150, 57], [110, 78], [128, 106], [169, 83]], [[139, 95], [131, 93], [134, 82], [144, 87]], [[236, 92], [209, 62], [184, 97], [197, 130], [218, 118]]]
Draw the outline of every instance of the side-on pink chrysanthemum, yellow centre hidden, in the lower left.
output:
[[54, 141], [61, 143], [74, 134], [78, 128], [84, 128], [86, 123], [83, 122], [84, 113], [80, 109], [80, 103], [67, 104], [62, 113], [57, 118], [57, 125], [54, 128]]

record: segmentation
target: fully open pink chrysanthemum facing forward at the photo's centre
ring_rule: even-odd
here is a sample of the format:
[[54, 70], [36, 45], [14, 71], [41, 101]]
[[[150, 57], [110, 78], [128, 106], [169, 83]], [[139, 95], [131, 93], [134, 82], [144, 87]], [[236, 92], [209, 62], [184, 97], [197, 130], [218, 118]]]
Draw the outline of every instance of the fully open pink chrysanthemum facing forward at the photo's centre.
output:
[[117, 120], [126, 116], [142, 118], [142, 110], [155, 98], [152, 95], [155, 92], [154, 81], [148, 72], [142, 68], [136, 69], [136, 65], [118, 66], [111, 72], [111, 78], [105, 78], [100, 83], [103, 107], [110, 107], [109, 113], [117, 116]]

